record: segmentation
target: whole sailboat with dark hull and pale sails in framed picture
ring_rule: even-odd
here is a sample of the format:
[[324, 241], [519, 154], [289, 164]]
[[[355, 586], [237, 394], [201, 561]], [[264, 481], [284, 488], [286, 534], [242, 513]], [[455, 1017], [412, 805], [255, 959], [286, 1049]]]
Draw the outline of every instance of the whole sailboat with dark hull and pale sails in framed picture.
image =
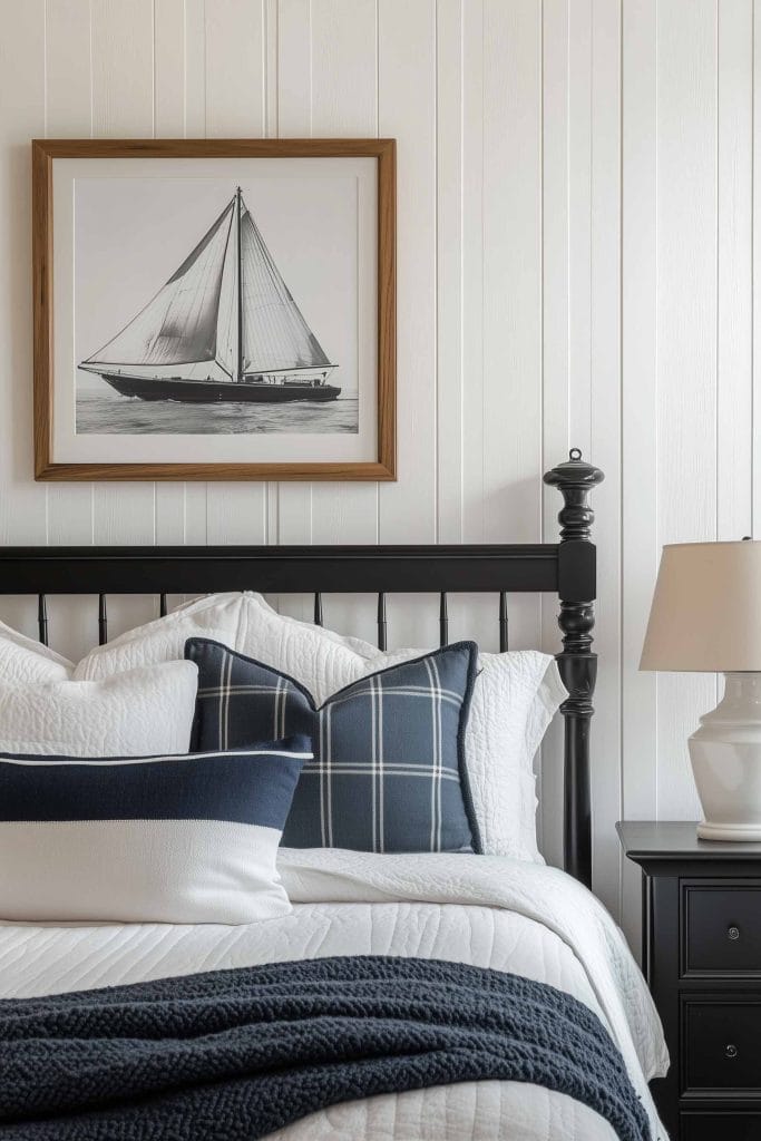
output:
[[153, 299], [80, 364], [122, 396], [204, 404], [334, 400], [335, 367], [240, 186]]

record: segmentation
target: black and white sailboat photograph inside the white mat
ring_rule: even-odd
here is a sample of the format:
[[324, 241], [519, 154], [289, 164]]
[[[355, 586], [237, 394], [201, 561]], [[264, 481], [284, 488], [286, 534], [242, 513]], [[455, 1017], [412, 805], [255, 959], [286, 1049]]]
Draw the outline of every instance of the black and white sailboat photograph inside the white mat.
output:
[[351, 178], [82, 179], [74, 209], [78, 432], [358, 430]]

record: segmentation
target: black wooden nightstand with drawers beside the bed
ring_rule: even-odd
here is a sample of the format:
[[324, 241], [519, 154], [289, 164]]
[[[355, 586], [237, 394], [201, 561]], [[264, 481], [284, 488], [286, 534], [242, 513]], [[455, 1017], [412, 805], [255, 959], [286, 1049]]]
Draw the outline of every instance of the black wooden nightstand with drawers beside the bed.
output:
[[672, 1141], [761, 1139], [761, 843], [618, 824], [642, 891], [642, 969], [671, 1053], [653, 1082]]

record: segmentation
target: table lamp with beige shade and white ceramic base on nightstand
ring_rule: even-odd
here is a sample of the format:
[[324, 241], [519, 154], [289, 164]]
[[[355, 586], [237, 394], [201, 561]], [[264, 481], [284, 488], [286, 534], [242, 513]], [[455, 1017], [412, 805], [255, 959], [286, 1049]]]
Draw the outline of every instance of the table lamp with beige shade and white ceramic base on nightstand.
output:
[[722, 672], [689, 738], [704, 840], [761, 840], [761, 542], [663, 548], [641, 670]]

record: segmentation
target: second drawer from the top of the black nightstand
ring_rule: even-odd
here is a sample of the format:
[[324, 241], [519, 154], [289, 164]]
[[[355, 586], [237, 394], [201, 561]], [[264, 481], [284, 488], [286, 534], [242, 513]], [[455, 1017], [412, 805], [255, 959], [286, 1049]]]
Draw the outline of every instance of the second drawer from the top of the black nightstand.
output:
[[682, 1086], [761, 1098], [761, 995], [682, 996]]

